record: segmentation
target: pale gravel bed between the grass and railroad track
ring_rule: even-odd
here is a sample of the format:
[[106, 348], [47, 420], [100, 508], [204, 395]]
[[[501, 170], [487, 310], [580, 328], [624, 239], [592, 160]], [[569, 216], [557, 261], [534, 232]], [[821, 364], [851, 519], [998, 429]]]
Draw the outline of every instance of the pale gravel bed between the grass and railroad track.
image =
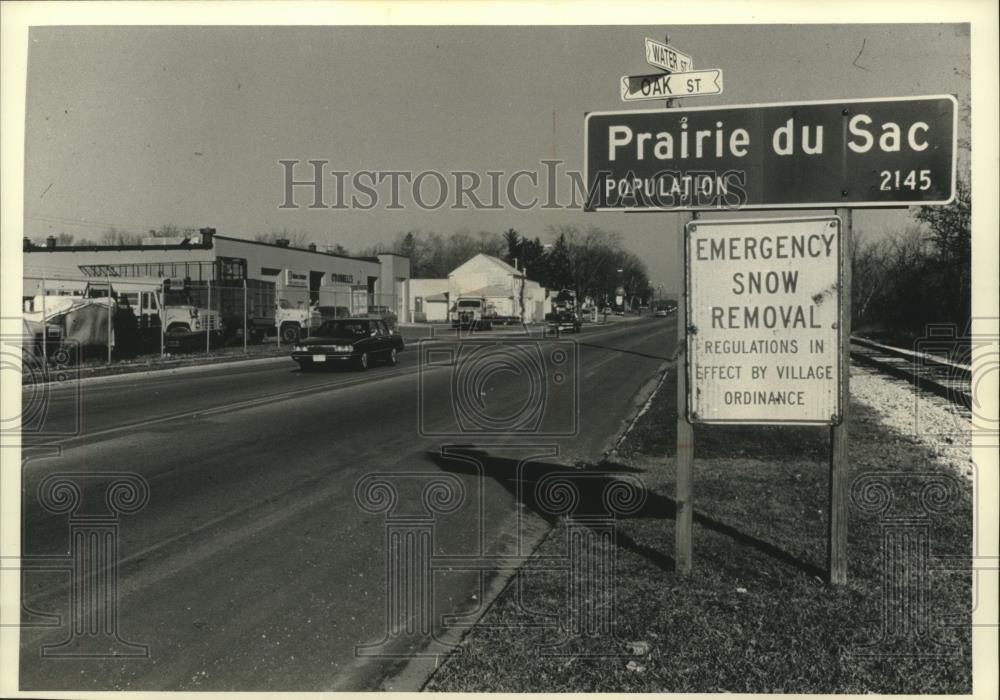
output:
[[972, 423], [962, 407], [853, 363], [851, 397], [874, 411], [885, 427], [915, 440], [955, 473], [972, 478]]

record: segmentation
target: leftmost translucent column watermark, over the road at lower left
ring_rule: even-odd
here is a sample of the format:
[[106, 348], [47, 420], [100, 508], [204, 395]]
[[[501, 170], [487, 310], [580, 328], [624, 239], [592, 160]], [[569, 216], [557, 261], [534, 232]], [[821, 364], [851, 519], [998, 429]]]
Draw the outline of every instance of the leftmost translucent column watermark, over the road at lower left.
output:
[[[31, 572], [59, 572], [67, 583], [43, 596], [69, 597], [68, 619], [35, 610], [22, 599], [21, 626], [65, 628], [65, 638], [41, 645], [46, 658], [148, 657], [149, 647], [123, 638], [119, 625], [118, 544], [122, 516], [133, 515], [149, 502], [149, 483], [131, 472], [57, 472], [46, 476], [35, 492], [41, 509], [66, 516], [65, 554], [21, 556], [22, 577]], [[8, 567], [5, 567], [8, 568]]]

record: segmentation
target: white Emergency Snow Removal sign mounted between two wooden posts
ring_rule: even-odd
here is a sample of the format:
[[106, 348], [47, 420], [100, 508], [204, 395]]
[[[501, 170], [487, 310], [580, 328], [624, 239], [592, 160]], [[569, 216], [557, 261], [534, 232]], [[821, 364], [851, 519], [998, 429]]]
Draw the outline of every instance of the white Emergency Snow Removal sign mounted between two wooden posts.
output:
[[840, 219], [696, 220], [686, 235], [691, 422], [838, 423]]

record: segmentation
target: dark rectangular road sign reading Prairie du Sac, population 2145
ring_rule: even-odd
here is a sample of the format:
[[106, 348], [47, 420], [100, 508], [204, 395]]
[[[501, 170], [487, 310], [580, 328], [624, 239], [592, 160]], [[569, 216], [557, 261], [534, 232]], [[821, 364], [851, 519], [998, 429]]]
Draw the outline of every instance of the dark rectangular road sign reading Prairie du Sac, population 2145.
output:
[[956, 110], [938, 95], [593, 112], [586, 210], [947, 204]]

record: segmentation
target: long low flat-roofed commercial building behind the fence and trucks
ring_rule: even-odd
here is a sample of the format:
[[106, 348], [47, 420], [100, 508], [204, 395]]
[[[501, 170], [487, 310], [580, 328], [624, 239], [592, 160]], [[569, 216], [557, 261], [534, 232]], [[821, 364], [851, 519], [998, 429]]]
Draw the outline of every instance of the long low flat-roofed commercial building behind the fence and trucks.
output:
[[294, 306], [320, 304], [366, 313], [373, 307], [400, 317], [410, 260], [392, 253], [351, 257], [296, 248], [287, 240], [262, 243], [221, 236], [203, 228], [188, 238], [146, 238], [139, 245], [59, 246], [24, 241], [24, 298], [73, 294], [88, 279], [243, 279], [275, 283], [279, 300]]

